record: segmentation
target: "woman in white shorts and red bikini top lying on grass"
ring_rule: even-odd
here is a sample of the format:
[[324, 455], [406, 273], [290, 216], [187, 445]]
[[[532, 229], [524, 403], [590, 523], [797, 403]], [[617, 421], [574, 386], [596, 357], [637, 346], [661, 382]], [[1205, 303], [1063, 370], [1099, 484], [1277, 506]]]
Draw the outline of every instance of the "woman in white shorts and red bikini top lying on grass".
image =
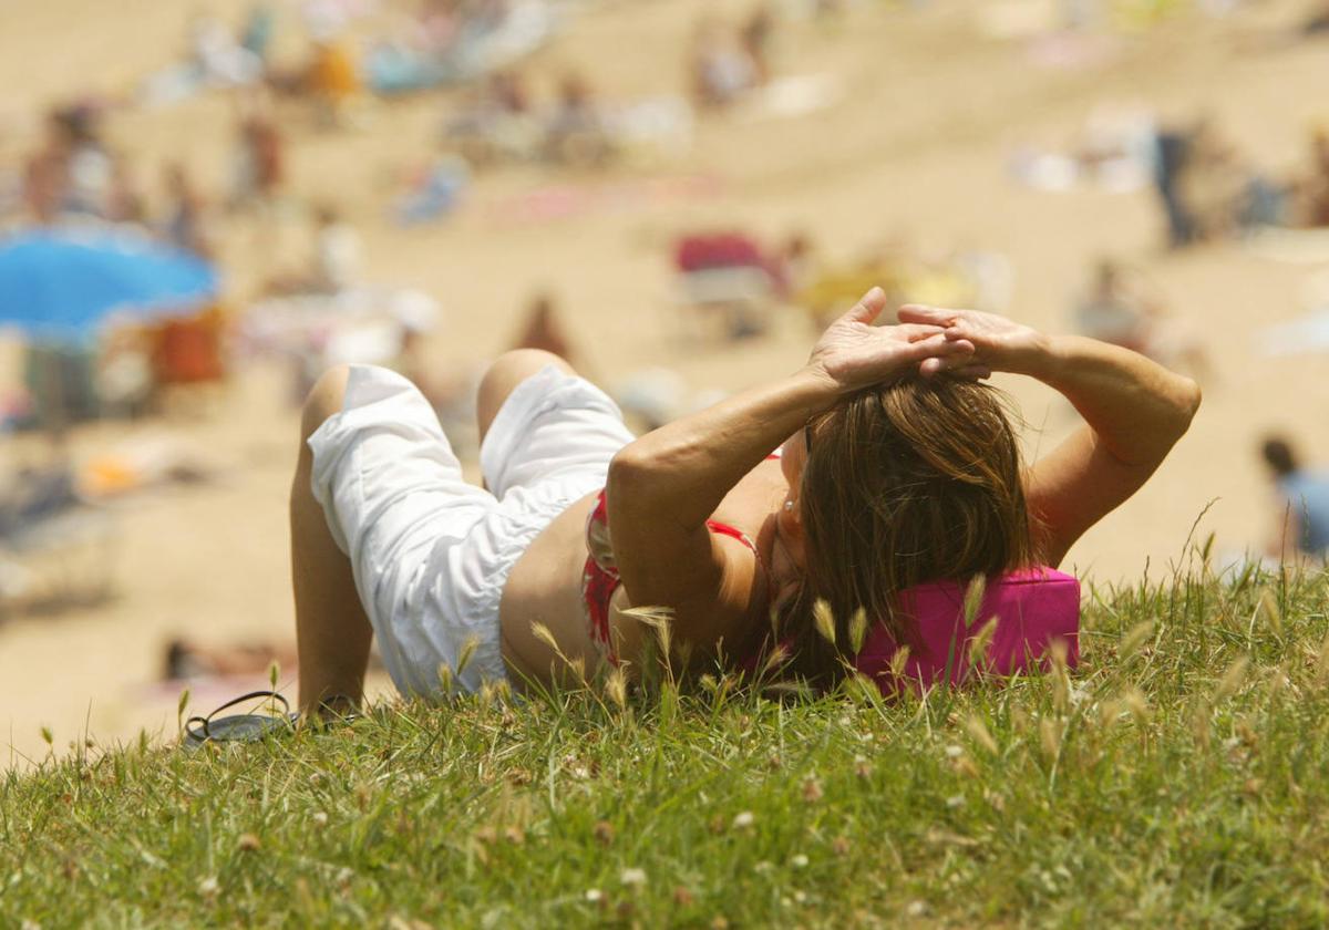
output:
[[[1057, 566], [1200, 403], [1122, 348], [966, 310], [873, 326], [884, 304], [874, 288], [793, 375], [641, 438], [556, 356], [510, 352], [480, 388], [484, 489], [408, 381], [324, 375], [291, 494], [302, 709], [360, 700], [373, 634], [407, 695], [631, 668], [633, 604], [671, 611], [694, 667], [779, 646], [787, 674], [827, 687], [856, 614], [914, 643], [901, 604], [918, 586]], [[1055, 388], [1086, 425], [1023, 469], [981, 383], [997, 371]]]

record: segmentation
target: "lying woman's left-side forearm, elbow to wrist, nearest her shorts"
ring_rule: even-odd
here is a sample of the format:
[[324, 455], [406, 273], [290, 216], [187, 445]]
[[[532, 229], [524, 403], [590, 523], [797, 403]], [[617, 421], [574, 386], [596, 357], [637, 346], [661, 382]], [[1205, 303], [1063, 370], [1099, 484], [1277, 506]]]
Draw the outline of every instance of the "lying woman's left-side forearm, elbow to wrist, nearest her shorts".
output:
[[813, 367], [651, 430], [609, 468], [610, 525], [668, 518], [700, 526], [739, 480], [839, 396]]

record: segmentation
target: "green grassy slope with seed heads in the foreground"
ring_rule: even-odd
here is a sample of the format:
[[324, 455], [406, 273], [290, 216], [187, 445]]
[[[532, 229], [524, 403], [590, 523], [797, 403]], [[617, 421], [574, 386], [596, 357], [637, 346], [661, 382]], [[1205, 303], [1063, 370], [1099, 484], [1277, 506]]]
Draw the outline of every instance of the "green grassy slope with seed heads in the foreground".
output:
[[0, 794], [0, 926], [1329, 921], [1329, 577], [1094, 593], [1078, 672], [401, 703]]

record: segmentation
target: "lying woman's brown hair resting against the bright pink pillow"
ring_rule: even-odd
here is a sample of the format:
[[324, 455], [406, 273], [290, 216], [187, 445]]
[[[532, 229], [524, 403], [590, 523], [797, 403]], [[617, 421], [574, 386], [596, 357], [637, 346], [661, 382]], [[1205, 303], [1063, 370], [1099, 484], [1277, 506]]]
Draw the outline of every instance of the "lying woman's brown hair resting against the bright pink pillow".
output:
[[[807, 575], [776, 635], [791, 647], [787, 671], [811, 684], [844, 675], [859, 608], [917, 647], [900, 591], [1034, 561], [1019, 449], [994, 388], [952, 377], [870, 388], [815, 417], [808, 436], [796, 490]], [[835, 643], [815, 628], [817, 601], [831, 607]]]

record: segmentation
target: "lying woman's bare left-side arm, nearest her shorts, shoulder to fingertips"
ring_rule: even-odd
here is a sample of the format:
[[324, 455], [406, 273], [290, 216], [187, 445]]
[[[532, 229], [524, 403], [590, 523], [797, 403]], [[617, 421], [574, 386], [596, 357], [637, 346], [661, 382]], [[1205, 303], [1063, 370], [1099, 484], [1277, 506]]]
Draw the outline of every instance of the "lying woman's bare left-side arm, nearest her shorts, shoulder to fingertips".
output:
[[641, 437], [609, 469], [609, 527], [627, 597], [674, 610], [680, 639], [714, 647], [752, 608], [756, 566], [706, 529], [724, 496], [843, 393], [913, 371], [926, 357], [973, 352], [940, 327], [876, 327], [880, 288], [833, 323], [809, 363], [779, 381]]

